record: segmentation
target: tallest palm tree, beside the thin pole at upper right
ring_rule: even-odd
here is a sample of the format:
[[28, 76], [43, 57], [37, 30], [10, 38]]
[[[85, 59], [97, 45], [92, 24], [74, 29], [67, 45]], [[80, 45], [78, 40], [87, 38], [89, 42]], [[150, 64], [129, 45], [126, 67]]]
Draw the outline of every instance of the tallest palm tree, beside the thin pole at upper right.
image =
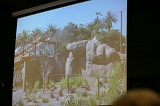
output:
[[117, 16], [111, 11], [108, 11], [106, 18], [104, 18], [104, 22], [105, 22], [105, 28], [107, 28], [108, 31], [110, 31], [112, 28], [112, 23], [117, 22]]

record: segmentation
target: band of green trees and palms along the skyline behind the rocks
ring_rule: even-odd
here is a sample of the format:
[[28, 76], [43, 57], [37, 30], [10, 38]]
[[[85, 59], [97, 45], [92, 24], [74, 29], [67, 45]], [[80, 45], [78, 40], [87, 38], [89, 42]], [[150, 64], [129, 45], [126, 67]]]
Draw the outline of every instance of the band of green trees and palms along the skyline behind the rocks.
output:
[[[32, 42], [39, 36], [47, 35], [52, 36], [50, 40], [58, 42], [58, 51], [60, 52], [66, 51], [66, 45], [71, 42], [90, 40], [96, 36], [101, 42], [119, 51], [120, 30], [112, 29], [113, 23], [118, 21], [116, 14], [112, 11], [107, 11], [105, 16], [102, 16], [101, 12], [95, 12], [95, 14], [96, 17], [85, 25], [69, 22], [63, 29], [60, 29], [55, 24], [50, 23], [45, 31], [38, 27], [32, 31], [23, 30], [17, 35], [16, 47], [25, 40]], [[126, 36], [122, 36], [122, 43], [126, 44]]]

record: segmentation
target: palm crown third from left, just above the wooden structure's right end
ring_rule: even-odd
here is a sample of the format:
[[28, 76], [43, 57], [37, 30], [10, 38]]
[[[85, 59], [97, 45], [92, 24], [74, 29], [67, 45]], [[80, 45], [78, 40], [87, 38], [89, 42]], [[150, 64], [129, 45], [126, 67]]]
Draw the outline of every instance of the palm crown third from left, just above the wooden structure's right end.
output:
[[57, 27], [53, 24], [49, 24], [47, 31], [46, 31], [46, 34], [49, 36], [54, 36], [56, 31], [57, 31]]

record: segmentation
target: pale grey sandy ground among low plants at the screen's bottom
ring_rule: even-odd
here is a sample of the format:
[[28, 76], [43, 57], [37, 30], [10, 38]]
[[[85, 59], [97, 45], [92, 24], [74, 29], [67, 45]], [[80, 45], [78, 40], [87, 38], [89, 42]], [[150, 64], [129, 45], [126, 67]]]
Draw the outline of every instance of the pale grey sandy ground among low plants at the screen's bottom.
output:
[[[103, 88], [103, 87], [102, 87]], [[95, 94], [95, 92], [97, 91], [97, 87], [92, 85], [90, 86], [89, 90], [86, 90], [85, 88], [76, 88], [74, 93], [70, 93], [71, 95], [73, 95], [74, 97], [77, 96], [78, 92], [85, 92], [87, 91], [87, 94]], [[100, 89], [102, 90], [102, 89]], [[20, 97], [22, 97], [22, 101], [24, 106], [64, 106], [62, 105], [62, 101], [64, 101], [64, 99], [66, 98], [66, 95], [68, 94], [68, 89], [63, 89], [62, 90], [62, 96], [59, 95], [59, 91], [60, 91], [60, 87], [56, 87], [56, 89], [53, 91], [53, 95], [54, 97], [51, 98], [51, 89], [47, 89], [45, 90], [44, 94], [42, 94], [42, 90], [41, 92], [36, 92], [36, 94], [32, 93], [31, 94], [31, 101], [28, 102], [27, 99], [25, 98], [25, 94], [23, 92], [23, 90], [17, 90], [15, 92], [13, 92], [13, 99], [12, 99], [12, 103], [15, 104]], [[36, 102], [33, 102], [33, 98], [35, 96], [35, 100]], [[43, 103], [43, 99], [47, 98], [48, 102]], [[16, 106], [19, 106], [18, 104]]]

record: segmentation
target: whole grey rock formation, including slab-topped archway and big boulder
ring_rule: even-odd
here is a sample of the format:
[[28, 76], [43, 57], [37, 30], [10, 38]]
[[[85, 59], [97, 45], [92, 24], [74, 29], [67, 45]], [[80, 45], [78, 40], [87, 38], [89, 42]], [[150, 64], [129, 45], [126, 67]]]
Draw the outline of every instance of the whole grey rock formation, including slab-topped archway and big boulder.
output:
[[[114, 63], [125, 61], [124, 54], [116, 52], [115, 49], [96, 38], [70, 43], [67, 45], [67, 50], [70, 54], [67, 58], [65, 73], [69, 75], [75, 73], [94, 75], [94, 72], [99, 71], [99, 76], [105, 73], [110, 77]], [[82, 64], [85, 64], [85, 67]]]

